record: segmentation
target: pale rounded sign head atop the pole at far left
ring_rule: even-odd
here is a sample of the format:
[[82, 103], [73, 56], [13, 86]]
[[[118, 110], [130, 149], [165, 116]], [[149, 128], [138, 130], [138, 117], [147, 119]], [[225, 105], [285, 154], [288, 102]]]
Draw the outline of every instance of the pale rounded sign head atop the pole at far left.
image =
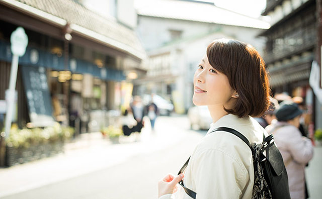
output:
[[11, 51], [14, 55], [23, 56], [28, 45], [28, 37], [22, 27], [18, 27], [10, 37]]

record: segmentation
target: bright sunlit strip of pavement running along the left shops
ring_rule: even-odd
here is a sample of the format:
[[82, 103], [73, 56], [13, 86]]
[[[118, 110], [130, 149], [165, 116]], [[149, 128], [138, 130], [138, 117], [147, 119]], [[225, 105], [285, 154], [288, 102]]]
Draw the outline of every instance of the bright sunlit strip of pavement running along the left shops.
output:
[[65, 144], [65, 152], [62, 154], [0, 168], [0, 198], [111, 167], [131, 156], [162, 150], [180, 141], [185, 133], [173, 134], [164, 128], [167, 127], [151, 133], [150, 128], [145, 127], [140, 140], [135, 141], [139, 138], [131, 135], [121, 138], [121, 144], [112, 144], [108, 139], [103, 139], [100, 132], [82, 134], [73, 142]]

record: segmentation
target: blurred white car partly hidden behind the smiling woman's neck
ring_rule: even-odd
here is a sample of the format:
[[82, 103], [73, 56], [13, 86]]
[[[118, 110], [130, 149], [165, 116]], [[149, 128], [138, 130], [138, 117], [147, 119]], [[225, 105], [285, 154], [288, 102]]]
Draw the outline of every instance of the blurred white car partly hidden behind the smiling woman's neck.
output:
[[191, 107], [188, 110], [190, 126], [194, 130], [208, 130], [212, 123], [212, 118], [207, 106]]

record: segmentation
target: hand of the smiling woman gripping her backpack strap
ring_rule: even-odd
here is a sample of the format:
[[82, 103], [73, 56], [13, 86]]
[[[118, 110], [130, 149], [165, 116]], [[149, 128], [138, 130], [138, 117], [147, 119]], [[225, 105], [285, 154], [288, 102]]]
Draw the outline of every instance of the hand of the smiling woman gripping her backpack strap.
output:
[[160, 180], [158, 183], [158, 197], [176, 192], [178, 190], [177, 184], [182, 180], [183, 177], [183, 173], [177, 176], [168, 174], [166, 177]]

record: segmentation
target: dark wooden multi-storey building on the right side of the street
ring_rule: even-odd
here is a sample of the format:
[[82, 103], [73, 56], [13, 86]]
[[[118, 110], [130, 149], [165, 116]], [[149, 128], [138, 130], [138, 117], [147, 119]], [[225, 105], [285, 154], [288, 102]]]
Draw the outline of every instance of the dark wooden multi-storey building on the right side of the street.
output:
[[266, 37], [263, 58], [273, 94], [302, 97], [315, 127], [321, 128], [321, 105], [309, 85], [318, 50], [316, 1], [267, 0], [262, 15], [271, 17], [271, 27], [260, 36]]

